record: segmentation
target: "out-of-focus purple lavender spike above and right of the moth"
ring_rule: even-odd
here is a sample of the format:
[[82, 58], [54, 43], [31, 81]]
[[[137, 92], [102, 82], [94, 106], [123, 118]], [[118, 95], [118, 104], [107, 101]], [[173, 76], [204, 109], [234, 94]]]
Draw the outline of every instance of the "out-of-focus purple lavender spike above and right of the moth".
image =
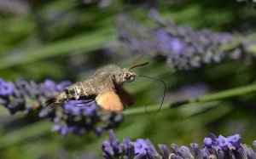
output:
[[[165, 56], [167, 65], [179, 70], [191, 70], [222, 60], [251, 59], [249, 50], [256, 41], [239, 33], [195, 31], [188, 26], [177, 26], [172, 20], [163, 20], [156, 10], [149, 17], [155, 26], [148, 27], [132, 20], [126, 14], [119, 15], [117, 29], [120, 48], [131, 53]], [[255, 50], [253, 50], [254, 52]]]

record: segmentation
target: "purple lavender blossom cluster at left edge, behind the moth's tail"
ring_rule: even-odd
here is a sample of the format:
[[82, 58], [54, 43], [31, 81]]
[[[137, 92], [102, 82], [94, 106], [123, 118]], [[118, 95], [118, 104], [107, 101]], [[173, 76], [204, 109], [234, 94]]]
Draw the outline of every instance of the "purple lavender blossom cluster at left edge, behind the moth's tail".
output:
[[[63, 82], [62, 88], [67, 87], [71, 82]], [[13, 82], [4, 82], [0, 79], [1, 91], [0, 99], [3, 101], [4, 106], [9, 109], [11, 114], [17, 111], [25, 111], [29, 113], [34, 110], [40, 111], [44, 108], [44, 101], [49, 97], [57, 94], [57, 84], [50, 80], [45, 80], [41, 84], [36, 82], [28, 82], [23, 79], [18, 79]], [[49, 111], [51, 114], [53, 110]], [[47, 116], [45, 114], [45, 116]]]

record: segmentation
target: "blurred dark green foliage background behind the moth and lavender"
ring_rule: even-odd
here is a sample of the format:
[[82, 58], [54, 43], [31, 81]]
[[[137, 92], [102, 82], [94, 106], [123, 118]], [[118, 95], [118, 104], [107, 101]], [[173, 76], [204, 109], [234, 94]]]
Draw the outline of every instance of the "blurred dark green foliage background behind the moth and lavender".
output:
[[[1, 0], [0, 77], [6, 81], [24, 78], [35, 82], [77, 82], [102, 65], [128, 66], [136, 59], [134, 54], [109, 51], [120, 43], [116, 17], [128, 13], [150, 25], [150, 8], [195, 30], [249, 34], [256, 29], [256, 10], [249, 3], [235, 0]], [[189, 94], [212, 94], [255, 83], [253, 61], [245, 64], [244, 60], [225, 60], [193, 71], [175, 71], [162, 57], [146, 56], [143, 61], [147, 60], [150, 65], [137, 68], [136, 72], [166, 82], [166, 105], [187, 99]], [[137, 114], [132, 109], [144, 109], [148, 102], [159, 106], [163, 95], [160, 83], [138, 78], [125, 84], [125, 88], [137, 99], [137, 105], [127, 109], [124, 122], [115, 128], [119, 139], [150, 139], [155, 146], [191, 142], [202, 145], [209, 133], [240, 133], [241, 142], [247, 145], [256, 139], [256, 94], [182, 105], [153, 116]], [[52, 125], [48, 120], [32, 121], [24, 112], [10, 116], [0, 106], [0, 158], [102, 158], [100, 146], [108, 139], [108, 132], [100, 137], [95, 133], [61, 136], [50, 131]]]

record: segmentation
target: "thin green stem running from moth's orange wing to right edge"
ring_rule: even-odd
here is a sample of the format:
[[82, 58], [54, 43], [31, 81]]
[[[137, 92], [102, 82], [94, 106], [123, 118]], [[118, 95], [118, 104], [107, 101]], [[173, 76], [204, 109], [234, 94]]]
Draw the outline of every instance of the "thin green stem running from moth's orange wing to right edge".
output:
[[[256, 92], [256, 84], [247, 85], [240, 88], [232, 88], [230, 90], [225, 90], [225, 91], [214, 93], [214, 94], [203, 95], [198, 98], [186, 99], [186, 100], [178, 101], [171, 104], [164, 104], [161, 108], [161, 111], [164, 111], [170, 108], [177, 108], [182, 105], [207, 103], [211, 101], [218, 101], [221, 99], [228, 99], [228, 98], [243, 95], [243, 94], [252, 94], [254, 92]], [[147, 107], [148, 113], [150, 112], [154, 113], [158, 109], [159, 109], [159, 105], [150, 105]], [[138, 115], [138, 114], [144, 114], [144, 113], [145, 113], [145, 107], [138, 107], [138, 108], [125, 111], [125, 115]]]

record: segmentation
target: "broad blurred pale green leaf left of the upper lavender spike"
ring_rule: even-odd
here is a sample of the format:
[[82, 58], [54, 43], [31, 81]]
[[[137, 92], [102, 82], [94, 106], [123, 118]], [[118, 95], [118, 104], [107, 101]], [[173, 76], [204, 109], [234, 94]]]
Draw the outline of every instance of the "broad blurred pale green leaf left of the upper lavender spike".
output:
[[74, 54], [74, 52], [77, 51], [88, 53], [91, 50], [102, 48], [104, 44], [111, 40], [114, 40], [113, 30], [105, 29], [96, 32], [84, 33], [78, 37], [49, 43], [43, 48], [27, 50], [22, 54], [11, 54], [2, 57], [0, 59], [0, 69], [52, 58], [58, 55]]

